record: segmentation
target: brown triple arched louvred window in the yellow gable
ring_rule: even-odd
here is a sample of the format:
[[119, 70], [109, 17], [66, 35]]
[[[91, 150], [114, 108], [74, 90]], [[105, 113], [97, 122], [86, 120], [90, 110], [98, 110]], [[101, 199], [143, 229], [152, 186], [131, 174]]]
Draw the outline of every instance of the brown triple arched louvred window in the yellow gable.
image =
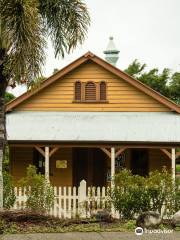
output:
[[75, 102], [106, 102], [107, 90], [106, 82], [75, 82], [74, 101]]

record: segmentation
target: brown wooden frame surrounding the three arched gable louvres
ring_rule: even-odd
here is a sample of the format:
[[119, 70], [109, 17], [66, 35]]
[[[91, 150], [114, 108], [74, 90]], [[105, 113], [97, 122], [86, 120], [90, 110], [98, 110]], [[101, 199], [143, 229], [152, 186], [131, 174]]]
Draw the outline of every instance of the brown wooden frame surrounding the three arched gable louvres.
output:
[[[76, 83], [77, 82], [80, 82], [81, 83], [81, 100], [76, 100], [75, 99], [75, 86], [76, 86]], [[101, 83], [105, 83], [105, 86], [106, 86], [106, 100], [100, 100], [100, 84]], [[95, 87], [96, 87], [96, 100], [86, 100], [85, 99], [85, 87], [86, 87], [86, 84], [88, 83], [94, 83], [95, 84]], [[107, 100], [107, 83], [105, 81], [100, 81], [100, 82], [94, 82], [94, 81], [87, 81], [87, 82], [81, 82], [81, 81], [76, 81], [74, 83], [74, 99], [73, 99], [73, 103], [109, 103], [108, 100]]]

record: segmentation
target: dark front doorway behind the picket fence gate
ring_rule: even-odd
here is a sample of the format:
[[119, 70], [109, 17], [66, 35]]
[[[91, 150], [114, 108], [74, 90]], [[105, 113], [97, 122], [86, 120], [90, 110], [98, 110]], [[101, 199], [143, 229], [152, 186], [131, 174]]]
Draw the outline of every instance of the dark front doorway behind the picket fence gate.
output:
[[74, 148], [73, 150], [73, 185], [79, 186], [81, 180], [87, 186], [105, 186], [107, 157], [98, 148]]

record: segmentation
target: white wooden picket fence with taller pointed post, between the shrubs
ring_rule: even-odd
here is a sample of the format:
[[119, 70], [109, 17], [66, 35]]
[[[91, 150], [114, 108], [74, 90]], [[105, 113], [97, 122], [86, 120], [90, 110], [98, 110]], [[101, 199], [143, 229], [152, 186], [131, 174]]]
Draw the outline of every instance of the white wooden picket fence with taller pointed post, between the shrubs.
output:
[[[54, 205], [49, 214], [59, 218], [90, 217], [108, 207], [107, 191], [105, 187], [87, 187], [85, 180], [80, 182], [78, 188], [54, 187]], [[15, 195], [14, 209], [25, 209], [26, 189], [15, 187]]]

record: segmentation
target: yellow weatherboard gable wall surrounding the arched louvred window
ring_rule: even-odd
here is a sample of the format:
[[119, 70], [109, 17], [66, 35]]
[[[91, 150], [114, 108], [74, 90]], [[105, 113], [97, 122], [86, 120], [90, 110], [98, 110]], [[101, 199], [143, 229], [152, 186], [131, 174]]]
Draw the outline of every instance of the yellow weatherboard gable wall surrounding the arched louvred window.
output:
[[[73, 103], [76, 81], [105, 81], [108, 103]], [[127, 111], [164, 112], [169, 108], [103, 67], [91, 61], [82, 64], [47, 88], [30, 97], [18, 111]]]

